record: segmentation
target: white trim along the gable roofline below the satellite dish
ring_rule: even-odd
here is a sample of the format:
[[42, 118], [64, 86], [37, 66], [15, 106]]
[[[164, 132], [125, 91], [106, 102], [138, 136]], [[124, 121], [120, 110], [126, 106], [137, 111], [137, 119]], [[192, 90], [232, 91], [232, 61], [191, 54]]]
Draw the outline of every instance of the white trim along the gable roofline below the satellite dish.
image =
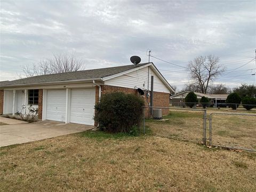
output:
[[135, 67], [133, 69], [130, 69], [130, 70], [126, 70], [126, 71], [123, 71], [121, 73], [118, 73], [118, 74], [114, 74], [114, 75], [110, 75], [110, 76], [107, 76], [107, 77], [103, 77], [102, 78], [102, 81], [105, 82], [109, 79], [112, 79], [112, 78], [116, 78], [116, 77], [119, 77], [121, 75], [125, 75], [125, 74], [128, 74], [128, 73], [131, 73], [133, 71], [136, 71], [136, 70], [139, 70], [139, 69], [142, 69], [142, 68], [145, 68], [145, 67], [151, 67], [152, 69], [154, 69], [154, 72], [156, 73], [156, 75], [162, 80], [162, 82], [165, 84], [165, 86], [170, 90], [170, 91], [173, 91], [173, 88], [172, 86], [166, 81], [166, 79], [163, 77], [163, 75], [158, 71], [158, 69], [155, 67], [154, 63], [153, 62], [150, 62], [148, 63], [147, 65], [143, 65], [143, 66], [140, 66], [140, 67]]

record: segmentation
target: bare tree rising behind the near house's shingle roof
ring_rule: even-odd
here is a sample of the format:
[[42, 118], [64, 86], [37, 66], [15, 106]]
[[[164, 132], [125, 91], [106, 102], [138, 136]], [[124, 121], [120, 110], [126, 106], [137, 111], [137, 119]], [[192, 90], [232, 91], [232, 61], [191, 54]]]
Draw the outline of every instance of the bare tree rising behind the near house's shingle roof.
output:
[[72, 54], [53, 54], [52, 58], [43, 58], [33, 66], [23, 66], [22, 71], [26, 77], [37, 75], [66, 73], [83, 70], [83, 61]]

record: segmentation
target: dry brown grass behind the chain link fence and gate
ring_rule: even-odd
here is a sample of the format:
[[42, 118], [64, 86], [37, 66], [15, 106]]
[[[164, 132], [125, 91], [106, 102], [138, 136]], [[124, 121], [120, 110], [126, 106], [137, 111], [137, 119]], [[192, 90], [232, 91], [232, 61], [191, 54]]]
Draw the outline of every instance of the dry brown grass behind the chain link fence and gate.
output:
[[[246, 110], [207, 110], [211, 113], [245, 113]], [[251, 111], [253, 113], [253, 111]], [[203, 112], [171, 109], [165, 121], [148, 120], [147, 125], [155, 135], [200, 143], [203, 137]], [[256, 150], [256, 116], [213, 115], [212, 116], [213, 145], [241, 147]], [[167, 120], [167, 121], [166, 121]], [[209, 138], [209, 121], [207, 120], [207, 138]]]

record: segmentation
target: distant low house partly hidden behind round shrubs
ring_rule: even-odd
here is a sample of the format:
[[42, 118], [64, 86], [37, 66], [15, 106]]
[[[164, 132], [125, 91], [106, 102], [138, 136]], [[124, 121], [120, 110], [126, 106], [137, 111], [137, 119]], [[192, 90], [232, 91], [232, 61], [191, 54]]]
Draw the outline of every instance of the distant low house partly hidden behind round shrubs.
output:
[[[179, 94], [172, 95], [170, 97], [170, 103], [172, 106], [185, 106], [185, 98], [189, 91], [185, 91]], [[221, 103], [226, 103], [226, 99], [228, 97], [228, 94], [203, 94], [203, 93], [197, 93], [194, 92], [197, 96], [198, 102], [200, 102], [201, 98], [204, 96], [208, 99], [210, 99], [210, 103], [212, 103], [212, 106], [218, 107], [221, 106]]]

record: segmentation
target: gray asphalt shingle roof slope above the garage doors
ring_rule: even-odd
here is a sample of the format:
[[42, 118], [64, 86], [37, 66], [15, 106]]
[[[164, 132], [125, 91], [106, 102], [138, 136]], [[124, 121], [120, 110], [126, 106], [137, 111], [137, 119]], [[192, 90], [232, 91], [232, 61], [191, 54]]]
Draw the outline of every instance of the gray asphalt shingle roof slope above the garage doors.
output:
[[[147, 65], [148, 63], [140, 63], [136, 67]], [[108, 67], [100, 69], [90, 69], [73, 71], [68, 73], [50, 74], [50, 75], [39, 75], [34, 77], [27, 77], [22, 79], [17, 79], [14, 81], [3, 81], [0, 82], [0, 87], [7, 85], [27, 85], [31, 83], [47, 83], [47, 82], [59, 82], [68, 80], [78, 80], [78, 79], [97, 79], [102, 77], [107, 77], [110, 75], [115, 75], [122, 73], [126, 70], [133, 69], [134, 65], [118, 66], [118, 67]]]

